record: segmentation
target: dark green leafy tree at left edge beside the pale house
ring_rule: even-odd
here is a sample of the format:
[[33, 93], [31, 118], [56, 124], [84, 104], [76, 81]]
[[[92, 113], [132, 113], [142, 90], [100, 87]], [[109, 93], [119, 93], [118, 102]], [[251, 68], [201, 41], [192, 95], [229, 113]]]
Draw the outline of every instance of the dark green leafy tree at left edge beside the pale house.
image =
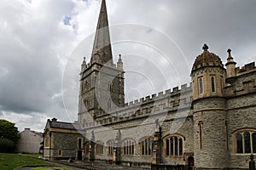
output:
[[15, 123], [0, 119], [0, 139], [9, 139], [17, 143], [20, 135]]

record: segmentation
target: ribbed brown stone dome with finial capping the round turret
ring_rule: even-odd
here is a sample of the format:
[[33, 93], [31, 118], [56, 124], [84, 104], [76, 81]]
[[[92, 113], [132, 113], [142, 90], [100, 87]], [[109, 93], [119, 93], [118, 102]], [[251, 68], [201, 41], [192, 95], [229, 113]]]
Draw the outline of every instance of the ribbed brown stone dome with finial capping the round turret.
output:
[[203, 50], [204, 52], [196, 57], [192, 72], [206, 66], [220, 66], [224, 68], [224, 65], [218, 55], [208, 51], [207, 44], [204, 45]]

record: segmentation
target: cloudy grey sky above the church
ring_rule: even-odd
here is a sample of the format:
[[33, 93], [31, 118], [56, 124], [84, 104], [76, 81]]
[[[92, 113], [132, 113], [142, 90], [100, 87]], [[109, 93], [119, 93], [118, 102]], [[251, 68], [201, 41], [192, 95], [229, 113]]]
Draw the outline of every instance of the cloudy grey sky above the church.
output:
[[[207, 43], [226, 62], [256, 59], [255, 0], [106, 0], [125, 100], [190, 82]], [[48, 118], [77, 120], [79, 70], [90, 61], [101, 1], [0, 1], [0, 118], [43, 132]]]

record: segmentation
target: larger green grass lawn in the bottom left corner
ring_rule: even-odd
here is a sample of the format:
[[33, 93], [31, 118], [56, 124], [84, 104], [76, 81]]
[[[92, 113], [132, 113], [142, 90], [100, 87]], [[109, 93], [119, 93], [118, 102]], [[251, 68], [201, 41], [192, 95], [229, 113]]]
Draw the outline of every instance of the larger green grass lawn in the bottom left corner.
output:
[[0, 153], [0, 169], [13, 170], [16, 167], [22, 167], [26, 165], [53, 166], [53, 164], [47, 161], [36, 159], [38, 156], [39, 155]]

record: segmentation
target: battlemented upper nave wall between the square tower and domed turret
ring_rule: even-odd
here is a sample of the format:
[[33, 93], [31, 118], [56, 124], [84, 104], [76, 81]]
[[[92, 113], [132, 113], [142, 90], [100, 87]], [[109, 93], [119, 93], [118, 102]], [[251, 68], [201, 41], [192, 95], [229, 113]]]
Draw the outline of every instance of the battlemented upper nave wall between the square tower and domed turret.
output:
[[177, 112], [177, 110], [189, 110], [191, 107], [192, 83], [183, 84], [181, 88], [175, 87], [152, 94], [147, 97], [137, 99], [126, 103], [115, 111], [99, 112], [96, 115], [95, 122], [84, 122], [86, 127], [95, 127], [98, 125], [108, 125], [111, 123], [132, 121], [137, 118]]

